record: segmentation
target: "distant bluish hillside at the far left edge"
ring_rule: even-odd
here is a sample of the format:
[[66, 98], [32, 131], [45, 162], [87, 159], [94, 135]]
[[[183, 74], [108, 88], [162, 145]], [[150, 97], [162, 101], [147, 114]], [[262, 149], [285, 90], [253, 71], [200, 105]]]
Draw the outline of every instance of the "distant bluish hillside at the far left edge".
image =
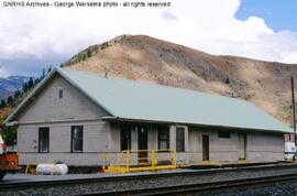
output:
[[23, 85], [29, 80], [23, 76], [10, 76], [8, 78], [0, 78], [0, 100], [6, 99], [18, 89], [23, 88]]

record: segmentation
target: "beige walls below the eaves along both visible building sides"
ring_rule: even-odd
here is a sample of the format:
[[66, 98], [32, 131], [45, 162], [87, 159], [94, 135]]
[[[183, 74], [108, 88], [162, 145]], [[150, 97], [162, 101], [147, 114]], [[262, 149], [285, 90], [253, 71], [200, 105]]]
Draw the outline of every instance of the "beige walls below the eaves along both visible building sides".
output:
[[[84, 126], [84, 153], [70, 153], [70, 126]], [[37, 153], [32, 148], [32, 141], [37, 141], [38, 127], [50, 127], [50, 152]], [[177, 153], [177, 164], [201, 164], [202, 163], [202, 134], [209, 135], [210, 161], [234, 162], [239, 160], [239, 132], [231, 132], [230, 139], [218, 137], [216, 130], [200, 130], [198, 128], [185, 127], [185, 152]], [[147, 127], [148, 149], [157, 149], [157, 129], [155, 126]], [[170, 149], [176, 143], [176, 127], [170, 126]], [[89, 122], [63, 122], [48, 124], [21, 126], [19, 129], [19, 150], [21, 164], [44, 163], [64, 161], [69, 165], [102, 165], [116, 164], [116, 155], [120, 153], [120, 128], [105, 121]], [[132, 150], [138, 150], [138, 132], [132, 131]], [[160, 153], [160, 156], [168, 153]], [[136, 163], [138, 154], [132, 155]], [[273, 162], [284, 159], [284, 138], [282, 134], [272, 133], [248, 133], [246, 160], [248, 162]]]

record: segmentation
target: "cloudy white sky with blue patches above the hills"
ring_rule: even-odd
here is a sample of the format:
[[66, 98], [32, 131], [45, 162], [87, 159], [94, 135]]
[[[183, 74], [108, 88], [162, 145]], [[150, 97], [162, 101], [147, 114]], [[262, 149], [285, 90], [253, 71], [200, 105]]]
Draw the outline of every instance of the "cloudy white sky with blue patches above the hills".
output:
[[121, 34], [146, 34], [217, 55], [297, 63], [296, 0], [160, 1], [172, 7], [6, 8], [1, 1], [0, 77], [40, 75], [43, 67]]

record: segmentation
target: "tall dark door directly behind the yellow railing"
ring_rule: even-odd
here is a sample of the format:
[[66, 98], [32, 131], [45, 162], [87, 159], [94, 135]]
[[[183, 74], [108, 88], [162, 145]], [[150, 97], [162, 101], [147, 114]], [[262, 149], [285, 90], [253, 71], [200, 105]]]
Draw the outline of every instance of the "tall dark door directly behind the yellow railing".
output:
[[[147, 129], [140, 127], [139, 131], [139, 163], [147, 163]], [[142, 151], [144, 150], [144, 151]]]

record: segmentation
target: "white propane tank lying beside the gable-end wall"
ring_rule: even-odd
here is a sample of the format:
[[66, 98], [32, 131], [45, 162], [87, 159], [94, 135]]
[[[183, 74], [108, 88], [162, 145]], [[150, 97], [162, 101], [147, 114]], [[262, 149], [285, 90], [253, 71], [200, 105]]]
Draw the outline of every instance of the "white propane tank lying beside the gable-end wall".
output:
[[36, 173], [43, 175], [65, 175], [68, 172], [66, 164], [37, 164]]

